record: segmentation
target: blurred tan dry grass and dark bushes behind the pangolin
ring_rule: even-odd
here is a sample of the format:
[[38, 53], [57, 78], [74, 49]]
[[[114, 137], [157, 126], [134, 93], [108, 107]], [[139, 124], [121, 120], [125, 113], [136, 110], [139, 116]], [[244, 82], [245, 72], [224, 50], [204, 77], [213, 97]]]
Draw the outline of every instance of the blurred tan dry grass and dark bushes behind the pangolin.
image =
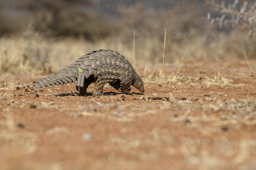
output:
[[20, 2], [0, 4], [2, 69], [64, 68], [102, 48], [155, 65], [162, 62], [165, 28], [166, 64], [256, 57], [255, 0], [206, 0], [202, 8], [189, 0]]

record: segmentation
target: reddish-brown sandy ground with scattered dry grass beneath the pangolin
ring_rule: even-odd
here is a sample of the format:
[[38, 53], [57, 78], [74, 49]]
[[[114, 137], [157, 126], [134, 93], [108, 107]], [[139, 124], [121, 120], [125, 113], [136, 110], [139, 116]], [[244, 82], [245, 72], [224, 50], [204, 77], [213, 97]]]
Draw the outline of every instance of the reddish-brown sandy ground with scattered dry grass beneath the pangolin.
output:
[[1, 169], [256, 169], [250, 64], [166, 65], [164, 77], [139, 66], [145, 93], [106, 85], [101, 97], [93, 85], [88, 96], [75, 83], [31, 91], [40, 78], [2, 75]]

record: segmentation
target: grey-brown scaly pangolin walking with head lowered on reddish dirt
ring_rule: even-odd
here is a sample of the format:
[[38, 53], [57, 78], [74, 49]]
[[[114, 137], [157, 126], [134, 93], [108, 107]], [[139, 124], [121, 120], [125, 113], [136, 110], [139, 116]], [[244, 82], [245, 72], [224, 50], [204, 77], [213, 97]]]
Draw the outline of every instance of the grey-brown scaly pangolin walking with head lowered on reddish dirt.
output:
[[87, 87], [95, 82], [93, 96], [103, 95], [103, 86], [109, 83], [119, 92], [128, 94], [131, 91], [131, 85], [144, 92], [143, 81], [136, 74], [131, 63], [125, 57], [116, 51], [99, 50], [73, 62], [69, 67], [62, 68], [57, 74], [45, 77], [32, 86], [33, 90], [45, 88], [50, 85], [63, 85], [76, 82], [80, 70], [84, 73], [84, 86], [76, 89], [83, 95], [87, 93]]

